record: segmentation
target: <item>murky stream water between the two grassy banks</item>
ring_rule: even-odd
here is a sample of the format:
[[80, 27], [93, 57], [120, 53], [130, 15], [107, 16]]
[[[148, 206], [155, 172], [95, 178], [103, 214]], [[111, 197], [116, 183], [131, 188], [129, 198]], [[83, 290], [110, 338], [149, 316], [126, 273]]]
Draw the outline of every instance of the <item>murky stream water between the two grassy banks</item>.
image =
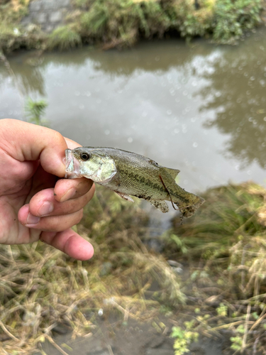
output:
[[53, 129], [179, 168], [186, 190], [265, 184], [265, 29], [237, 47], [167, 40], [9, 60], [16, 80], [0, 64], [0, 118], [23, 119], [23, 100], [42, 98]]

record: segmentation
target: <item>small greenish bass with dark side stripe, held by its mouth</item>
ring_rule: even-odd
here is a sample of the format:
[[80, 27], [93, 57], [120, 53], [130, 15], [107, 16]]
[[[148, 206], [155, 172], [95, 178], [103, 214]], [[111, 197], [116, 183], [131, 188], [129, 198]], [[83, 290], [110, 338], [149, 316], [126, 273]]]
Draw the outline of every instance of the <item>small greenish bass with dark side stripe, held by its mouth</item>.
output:
[[144, 155], [117, 148], [79, 147], [65, 151], [65, 178], [88, 178], [108, 187], [124, 200], [144, 199], [161, 212], [169, 212], [167, 202], [182, 217], [192, 217], [204, 199], [177, 185], [180, 170], [165, 168]]

